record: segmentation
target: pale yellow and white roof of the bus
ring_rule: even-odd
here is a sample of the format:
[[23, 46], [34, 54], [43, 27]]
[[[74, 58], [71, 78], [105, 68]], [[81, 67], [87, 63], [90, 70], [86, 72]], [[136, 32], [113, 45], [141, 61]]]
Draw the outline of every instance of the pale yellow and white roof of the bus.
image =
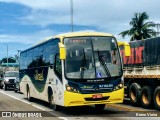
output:
[[[51, 40], [52, 38], [61, 38], [61, 40], [62, 40], [65, 37], [78, 37], [78, 36], [80, 37], [80, 36], [113, 36], [113, 35], [110, 33], [93, 32], [93, 31], [69, 32], [69, 33], [63, 33], [63, 34], [58, 34], [55, 36], [48, 37], [44, 40], [39, 41], [38, 43], [33, 45], [31, 48], [39, 46], [39, 45]], [[31, 49], [31, 48], [29, 48], [29, 49]], [[26, 49], [26, 50], [29, 50], [29, 49]], [[26, 50], [24, 50], [24, 51], [26, 51]], [[22, 52], [24, 52], [24, 51], [22, 51]]]

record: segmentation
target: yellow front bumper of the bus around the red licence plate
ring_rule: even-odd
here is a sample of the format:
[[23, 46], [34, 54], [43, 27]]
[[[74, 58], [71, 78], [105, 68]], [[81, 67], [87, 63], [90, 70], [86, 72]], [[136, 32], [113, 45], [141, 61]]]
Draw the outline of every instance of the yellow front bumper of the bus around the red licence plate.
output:
[[[93, 99], [92, 96], [101, 94], [100, 99]], [[124, 99], [124, 89], [119, 89], [109, 93], [80, 94], [73, 92], [64, 92], [64, 106], [83, 106], [108, 103], [122, 103]]]

